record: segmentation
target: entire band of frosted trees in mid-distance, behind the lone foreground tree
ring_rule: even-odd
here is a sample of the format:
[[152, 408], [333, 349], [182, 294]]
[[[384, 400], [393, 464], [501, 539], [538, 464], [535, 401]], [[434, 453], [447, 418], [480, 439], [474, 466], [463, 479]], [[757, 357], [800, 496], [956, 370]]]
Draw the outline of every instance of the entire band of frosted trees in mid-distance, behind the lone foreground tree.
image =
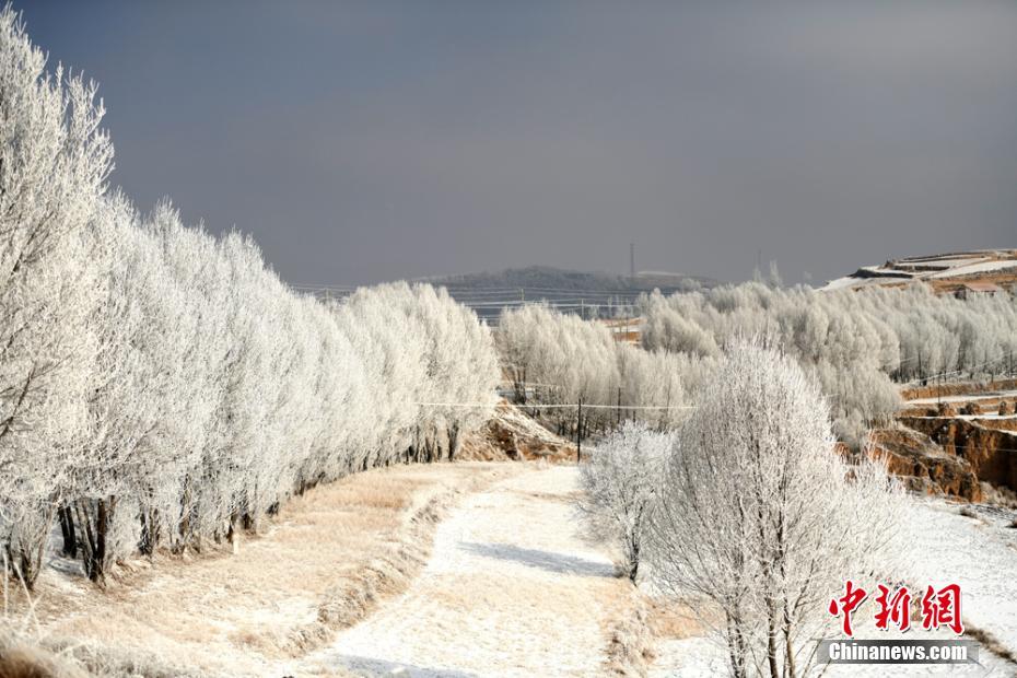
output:
[[[516, 398], [583, 401], [592, 406], [589, 425], [601, 429], [626, 418], [674, 425], [732, 340], [768, 337], [819, 382], [838, 436], [860, 444], [897, 411], [898, 383], [1017, 370], [1017, 301], [1009, 294], [963, 301], [921, 284], [825, 292], [749, 282], [644, 295], [635, 311], [642, 348], [615, 341], [601, 323], [546, 306], [503, 313], [496, 341]], [[550, 416], [575, 425], [575, 410]]]

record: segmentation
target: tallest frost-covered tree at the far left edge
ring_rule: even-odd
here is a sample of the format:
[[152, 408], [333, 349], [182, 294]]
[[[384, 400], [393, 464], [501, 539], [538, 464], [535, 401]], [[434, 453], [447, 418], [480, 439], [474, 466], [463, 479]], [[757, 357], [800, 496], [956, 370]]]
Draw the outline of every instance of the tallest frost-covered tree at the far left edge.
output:
[[113, 147], [95, 87], [45, 70], [0, 11], [0, 546], [38, 572], [58, 490], [84, 424], [100, 294], [89, 224]]

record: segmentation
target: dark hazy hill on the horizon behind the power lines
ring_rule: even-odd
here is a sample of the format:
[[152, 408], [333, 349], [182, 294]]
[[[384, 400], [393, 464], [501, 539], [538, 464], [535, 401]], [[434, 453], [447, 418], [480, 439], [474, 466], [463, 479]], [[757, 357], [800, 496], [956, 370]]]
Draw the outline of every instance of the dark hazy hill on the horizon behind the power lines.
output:
[[611, 317], [619, 307], [653, 290], [673, 294], [720, 284], [711, 278], [678, 273], [646, 271], [629, 277], [549, 266], [431, 278], [428, 282], [447, 288], [456, 301], [492, 322], [502, 308], [536, 301], [584, 317]]

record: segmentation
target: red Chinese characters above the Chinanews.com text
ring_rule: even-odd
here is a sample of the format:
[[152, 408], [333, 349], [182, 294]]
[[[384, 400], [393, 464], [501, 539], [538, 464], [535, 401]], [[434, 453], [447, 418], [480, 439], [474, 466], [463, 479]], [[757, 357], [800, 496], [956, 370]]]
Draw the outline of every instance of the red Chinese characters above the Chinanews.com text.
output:
[[[907, 586], [900, 586], [892, 592], [889, 586], [878, 585], [879, 595], [876, 596], [876, 628], [887, 631], [893, 624], [901, 631], [911, 628], [911, 592]], [[849, 580], [844, 586], [844, 595], [830, 600], [829, 612], [833, 617], [843, 617], [844, 634], [854, 635], [851, 627], [851, 615], [862, 605], [868, 592], [855, 586]], [[936, 591], [932, 586], [925, 589], [922, 596], [922, 628], [926, 631], [945, 627], [960, 635], [965, 626], [960, 618], [960, 585], [948, 584]]]

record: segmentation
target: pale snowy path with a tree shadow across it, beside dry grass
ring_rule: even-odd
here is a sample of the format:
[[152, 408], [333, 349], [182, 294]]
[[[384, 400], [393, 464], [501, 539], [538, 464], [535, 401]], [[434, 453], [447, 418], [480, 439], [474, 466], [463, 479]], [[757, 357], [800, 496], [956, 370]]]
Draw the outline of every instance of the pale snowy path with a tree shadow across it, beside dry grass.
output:
[[410, 591], [308, 657], [359, 675], [591, 676], [627, 586], [576, 534], [574, 467], [474, 494], [437, 529]]

